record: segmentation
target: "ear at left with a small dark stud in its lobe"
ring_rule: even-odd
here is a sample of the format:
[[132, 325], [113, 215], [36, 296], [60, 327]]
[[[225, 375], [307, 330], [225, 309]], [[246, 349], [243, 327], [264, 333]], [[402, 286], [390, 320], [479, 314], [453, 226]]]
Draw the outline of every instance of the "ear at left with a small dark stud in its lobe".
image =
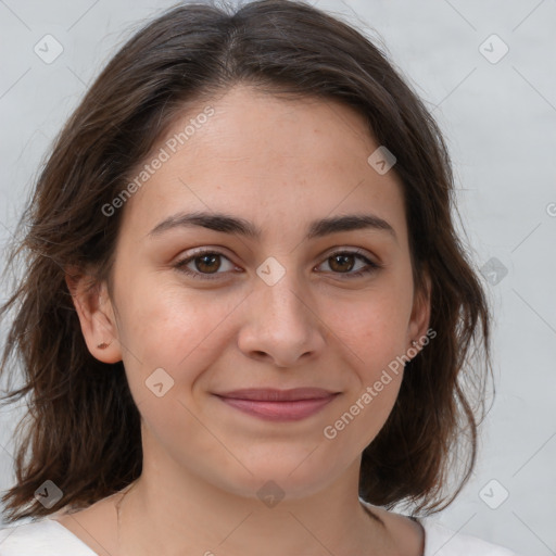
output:
[[65, 269], [65, 282], [91, 355], [102, 363], [122, 361], [114, 308], [106, 282], [99, 283], [75, 267]]

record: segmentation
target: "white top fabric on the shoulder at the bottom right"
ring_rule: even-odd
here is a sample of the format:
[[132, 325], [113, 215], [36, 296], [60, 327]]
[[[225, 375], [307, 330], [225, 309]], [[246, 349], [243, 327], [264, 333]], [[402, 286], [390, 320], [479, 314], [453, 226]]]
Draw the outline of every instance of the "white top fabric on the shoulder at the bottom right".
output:
[[458, 533], [431, 518], [419, 518], [418, 522], [425, 530], [424, 556], [518, 556], [509, 548]]

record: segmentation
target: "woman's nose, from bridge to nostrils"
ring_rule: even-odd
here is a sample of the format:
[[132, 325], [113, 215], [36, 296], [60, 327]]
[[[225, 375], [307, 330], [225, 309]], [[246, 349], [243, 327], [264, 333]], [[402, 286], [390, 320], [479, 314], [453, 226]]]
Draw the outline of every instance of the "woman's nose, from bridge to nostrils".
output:
[[287, 271], [273, 286], [263, 280], [245, 300], [238, 345], [245, 356], [276, 367], [294, 367], [318, 357], [327, 326], [309, 292]]

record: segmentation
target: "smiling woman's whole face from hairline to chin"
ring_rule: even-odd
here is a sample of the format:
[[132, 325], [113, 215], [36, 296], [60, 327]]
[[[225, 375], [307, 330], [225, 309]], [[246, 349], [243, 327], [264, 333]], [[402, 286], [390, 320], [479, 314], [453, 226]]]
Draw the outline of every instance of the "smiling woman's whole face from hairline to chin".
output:
[[[358, 465], [403, 378], [388, 369], [428, 325], [378, 147], [342, 104], [236, 87], [153, 151], [168, 157], [121, 208], [111, 298], [103, 285], [79, 316], [91, 353], [123, 359], [161, 472], [295, 497]], [[187, 217], [201, 212], [233, 220]], [[319, 390], [230, 394], [244, 389]]]

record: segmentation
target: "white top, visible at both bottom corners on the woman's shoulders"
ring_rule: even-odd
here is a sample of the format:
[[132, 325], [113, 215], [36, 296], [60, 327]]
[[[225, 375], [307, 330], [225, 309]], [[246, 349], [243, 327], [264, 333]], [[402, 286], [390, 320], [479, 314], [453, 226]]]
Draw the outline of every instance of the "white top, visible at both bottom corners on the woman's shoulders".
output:
[[[425, 529], [424, 556], [518, 556], [516, 553], [455, 533], [431, 518], [419, 518]], [[0, 529], [0, 556], [98, 556], [62, 523], [49, 517]]]

